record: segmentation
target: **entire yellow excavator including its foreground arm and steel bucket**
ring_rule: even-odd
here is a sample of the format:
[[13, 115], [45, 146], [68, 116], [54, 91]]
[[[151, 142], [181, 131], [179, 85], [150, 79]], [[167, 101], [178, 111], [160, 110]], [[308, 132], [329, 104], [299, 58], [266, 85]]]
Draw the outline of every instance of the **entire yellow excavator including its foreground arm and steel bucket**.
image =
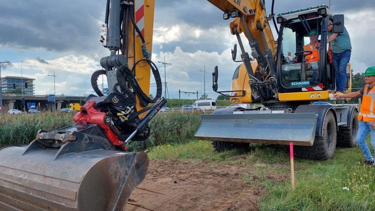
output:
[[[342, 138], [343, 145], [355, 144], [354, 107], [309, 105], [329, 99], [334, 91], [334, 71], [327, 63], [327, 25], [332, 19], [333, 30], [339, 33], [342, 17], [333, 17], [324, 5], [279, 14], [276, 42], [269, 25], [275, 17], [267, 17], [264, 0], [208, 1], [224, 12], [225, 20], [234, 19], [230, 29], [242, 52], [241, 61], [236, 61], [236, 47], [232, 53], [233, 60], [242, 64], [228, 91], [231, 101], [265, 107], [218, 109], [203, 115], [196, 137], [212, 140], [217, 150], [249, 142], [293, 142], [302, 146], [302, 155], [315, 159], [332, 157], [337, 129], [350, 133]], [[0, 149], [1, 211], [125, 210], [149, 164], [146, 152], [128, 152], [127, 144], [146, 140], [147, 123], [166, 103], [161, 98], [160, 74], [151, 61], [154, 7], [154, 0], [107, 0], [100, 41], [110, 55], [100, 61], [103, 70], [91, 77], [97, 95], [85, 99], [74, 125], [39, 130], [29, 145]], [[307, 63], [309, 52], [302, 51], [312, 29], [319, 31], [321, 39], [317, 63]], [[249, 40], [253, 59], [244, 50], [241, 33]], [[292, 54], [296, 63], [291, 62]], [[154, 99], [148, 98], [151, 72], [157, 84]], [[103, 74], [107, 96], [97, 84]]]

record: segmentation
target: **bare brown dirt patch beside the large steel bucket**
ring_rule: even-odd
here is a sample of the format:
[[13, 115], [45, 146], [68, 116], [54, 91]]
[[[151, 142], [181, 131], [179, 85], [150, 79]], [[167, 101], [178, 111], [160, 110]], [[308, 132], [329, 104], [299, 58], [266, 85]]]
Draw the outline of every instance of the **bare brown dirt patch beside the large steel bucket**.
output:
[[[245, 183], [244, 172], [255, 182]], [[286, 177], [278, 175], [274, 179]], [[131, 194], [126, 210], [257, 211], [259, 199], [265, 194], [260, 178], [250, 167], [205, 161], [151, 161], [146, 179]]]

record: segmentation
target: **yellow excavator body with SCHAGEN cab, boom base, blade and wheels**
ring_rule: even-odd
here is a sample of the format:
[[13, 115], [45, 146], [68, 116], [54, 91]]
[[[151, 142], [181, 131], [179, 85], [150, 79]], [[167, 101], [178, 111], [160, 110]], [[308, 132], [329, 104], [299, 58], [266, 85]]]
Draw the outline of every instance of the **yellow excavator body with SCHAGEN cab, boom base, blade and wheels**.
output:
[[[237, 45], [232, 49], [233, 61], [241, 64], [234, 71], [231, 90], [218, 91], [217, 66], [212, 73], [213, 90], [227, 95], [236, 104], [264, 106], [222, 108], [211, 115], [202, 115], [195, 137], [211, 140], [217, 151], [248, 147], [249, 143], [289, 145], [292, 142], [298, 157], [317, 160], [332, 158], [336, 145], [354, 147], [357, 108], [324, 102], [332, 100], [336, 90], [327, 27], [332, 21], [333, 33], [342, 33], [344, 16], [332, 15], [326, 5], [288, 11], [275, 17], [274, 0], [270, 16], [266, 14], [264, 0], [210, 2], [224, 12], [225, 20], [234, 19], [229, 26], [241, 49], [239, 61], [236, 61]], [[274, 23], [277, 41], [273, 39], [269, 21]], [[318, 55], [317, 61], [309, 61], [313, 52], [303, 48], [310, 43], [312, 31], [319, 39], [313, 49]], [[241, 33], [249, 41], [252, 59], [245, 51]], [[348, 64], [347, 92], [351, 92], [350, 77]]]

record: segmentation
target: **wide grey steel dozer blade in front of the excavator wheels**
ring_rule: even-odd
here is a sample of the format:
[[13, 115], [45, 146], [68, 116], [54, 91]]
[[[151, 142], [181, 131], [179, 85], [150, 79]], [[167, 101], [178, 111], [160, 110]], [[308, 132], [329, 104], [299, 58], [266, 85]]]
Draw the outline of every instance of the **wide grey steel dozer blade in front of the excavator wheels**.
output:
[[312, 146], [314, 113], [256, 113], [202, 115], [195, 134], [199, 140]]

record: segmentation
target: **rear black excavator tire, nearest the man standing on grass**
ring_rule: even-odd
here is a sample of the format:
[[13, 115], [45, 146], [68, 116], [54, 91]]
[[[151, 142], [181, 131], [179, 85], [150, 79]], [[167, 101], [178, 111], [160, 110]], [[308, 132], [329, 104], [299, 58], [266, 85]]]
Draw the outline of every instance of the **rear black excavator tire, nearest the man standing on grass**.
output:
[[355, 136], [358, 132], [358, 113], [356, 110], [353, 111], [352, 120], [349, 123], [350, 128], [338, 128], [337, 132], [337, 147], [353, 148], [357, 144]]

